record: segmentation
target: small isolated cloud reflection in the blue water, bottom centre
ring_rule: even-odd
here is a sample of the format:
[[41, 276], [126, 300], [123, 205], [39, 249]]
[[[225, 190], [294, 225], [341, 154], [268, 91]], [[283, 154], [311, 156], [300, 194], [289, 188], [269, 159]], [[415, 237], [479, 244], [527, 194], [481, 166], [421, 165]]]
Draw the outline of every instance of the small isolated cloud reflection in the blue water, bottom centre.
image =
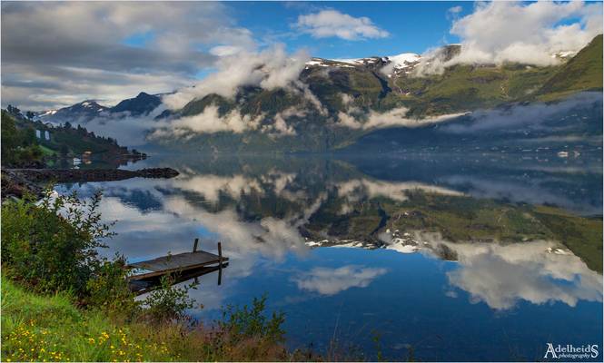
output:
[[343, 266], [338, 269], [315, 268], [300, 274], [293, 281], [298, 289], [318, 292], [321, 295], [336, 295], [346, 289], [366, 288], [371, 282], [385, 274], [386, 269]]

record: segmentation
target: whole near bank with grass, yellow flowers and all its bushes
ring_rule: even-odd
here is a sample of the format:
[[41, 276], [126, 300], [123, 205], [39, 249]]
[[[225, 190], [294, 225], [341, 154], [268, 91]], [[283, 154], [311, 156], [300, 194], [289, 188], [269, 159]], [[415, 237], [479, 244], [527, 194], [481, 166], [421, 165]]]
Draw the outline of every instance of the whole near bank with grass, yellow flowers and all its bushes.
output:
[[[134, 299], [124, 260], [102, 259], [111, 225], [97, 212], [101, 196], [50, 193], [42, 201], [2, 206], [2, 361], [292, 360], [283, 315], [265, 298], [226, 307], [203, 325], [186, 311], [187, 287], [162, 281]], [[304, 360], [308, 360], [304, 356]]]

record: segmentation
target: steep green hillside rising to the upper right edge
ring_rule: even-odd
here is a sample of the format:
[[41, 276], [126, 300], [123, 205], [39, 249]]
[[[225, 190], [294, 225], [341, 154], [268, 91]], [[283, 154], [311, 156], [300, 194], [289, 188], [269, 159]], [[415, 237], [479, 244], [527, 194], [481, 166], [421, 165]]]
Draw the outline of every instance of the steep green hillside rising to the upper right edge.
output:
[[602, 90], [602, 34], [543, 84], [538, 99], [550, 101], [579, 91]]

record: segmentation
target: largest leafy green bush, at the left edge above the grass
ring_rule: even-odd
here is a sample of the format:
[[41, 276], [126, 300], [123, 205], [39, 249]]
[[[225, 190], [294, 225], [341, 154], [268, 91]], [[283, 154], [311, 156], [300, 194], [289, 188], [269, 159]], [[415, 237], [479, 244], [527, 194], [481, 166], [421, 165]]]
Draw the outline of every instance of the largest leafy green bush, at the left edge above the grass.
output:
[[7, 276], [36, 291], [72, 290], [82, 297], [104, 261], [97, 248], [110, 237], [98, 212], [101, 193], [90, 201], [47, 191], [39, 203], [25, 199], [2, 206], [2, 261]]

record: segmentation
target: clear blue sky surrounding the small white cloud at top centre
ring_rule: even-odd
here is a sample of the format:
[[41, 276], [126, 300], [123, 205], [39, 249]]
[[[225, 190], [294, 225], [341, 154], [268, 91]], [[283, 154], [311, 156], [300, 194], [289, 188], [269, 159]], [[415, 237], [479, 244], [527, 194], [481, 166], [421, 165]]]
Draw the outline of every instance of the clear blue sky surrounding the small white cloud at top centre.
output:
[[[422, 53], [426, 49], [459, 39], [449, 34], [450, 8], [461, 6], [460, 15], [473, 8], [469, 2], [316, 2], [316, 3], [229, 3], [239, 25], [266, 40], [287, 44], [289, 51], [306, 48], [322, 58], [363, 57], [400, 53]], [[353, 17], [366, 16], [390, 33], [378, 39], [348, 41], [337, 37], [316, 39], [290, 27], [299, 15], [334, 9]]]

